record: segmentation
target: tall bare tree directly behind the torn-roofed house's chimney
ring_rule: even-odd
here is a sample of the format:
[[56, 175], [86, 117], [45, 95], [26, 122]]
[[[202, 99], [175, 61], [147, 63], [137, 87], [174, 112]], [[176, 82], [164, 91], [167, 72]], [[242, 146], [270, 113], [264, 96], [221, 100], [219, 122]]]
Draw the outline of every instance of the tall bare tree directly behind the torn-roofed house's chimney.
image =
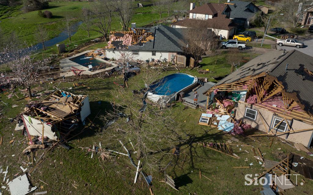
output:
[[120, 20], [123, 31], [127, 31], [131, 24], [131, 18], [134, 14], [132, 7], [134, 0], [119, 0], [113, 2], [113, 8], [115, 8], [115, 15]]

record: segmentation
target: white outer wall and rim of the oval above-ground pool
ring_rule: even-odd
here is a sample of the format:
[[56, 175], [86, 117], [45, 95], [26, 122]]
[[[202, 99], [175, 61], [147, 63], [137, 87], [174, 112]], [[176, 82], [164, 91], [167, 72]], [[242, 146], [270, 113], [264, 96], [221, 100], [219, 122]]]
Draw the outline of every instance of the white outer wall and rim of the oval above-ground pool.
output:
[[[169, 74], [167, 76], [174, 75], [174, 74], [188, 75], [186, 73], [173, 73], [173, 74]], [[167, 76], [164, 76], [164, 77], [167, 77]], [[172, 101], [175, 101], [177, 99], [177, 94], [178, 93], [186, 91], [186, 89], [188, 89], [190, 87], [193, 88], [193, 85], [197, 85], [197, 80], [198, 80], [197, 77], [192, 76], [192, 75], [188, 75], [188, 76], [193, 77], [194, 81], [190, 85], [188, 85], [188, 86], [182, 88], [181, 90], [179, 90], [178, 92], [172, 93], [170, 95], [157, 95], [157, 94], [148, 92], [147, 98], [150, 99], [151, 101], [155, 102], [155, 103], [171, 103]], [[164, 77], [162, 77], [161, 79], [163, 79]], [[160, 101], [160, 99], [161, 99], [161, 101]]]

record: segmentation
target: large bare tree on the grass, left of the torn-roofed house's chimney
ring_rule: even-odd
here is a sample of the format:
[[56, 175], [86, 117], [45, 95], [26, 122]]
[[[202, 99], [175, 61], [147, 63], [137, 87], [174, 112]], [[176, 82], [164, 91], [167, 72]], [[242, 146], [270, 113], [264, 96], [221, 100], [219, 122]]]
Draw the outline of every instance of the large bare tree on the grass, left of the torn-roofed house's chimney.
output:
[[90, 30], [103, 34], [105, 40], [108, 38], [114, 9], [112, 1], [100, 0], [92, 3], [90, 10], [86, 11], [89, 12], [88, 15], [95, 17], [92, 23], [90, 22], [93, 25], [90, 25]]

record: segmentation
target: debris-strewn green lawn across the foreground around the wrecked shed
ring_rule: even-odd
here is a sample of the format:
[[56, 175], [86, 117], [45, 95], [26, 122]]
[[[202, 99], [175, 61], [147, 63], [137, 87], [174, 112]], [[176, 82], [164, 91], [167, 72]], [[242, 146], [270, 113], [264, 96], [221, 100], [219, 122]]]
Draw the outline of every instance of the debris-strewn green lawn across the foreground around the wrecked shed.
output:
[[[209, 61], [209, 59], [206, 60]], [[188, 70], [181, 72], [187, 71]], [[174, 73], [174, 71], [163, 72], [160, 74], [160, 77], [171, 73]], [[191, 71], [191, 73], [193, 72]], [[141, 77], [141, 74], [137, 77]], [[56, 82], [53, 84], [42, 84], [42, 86], [46, 90], [57, 87], [75, 94], [89, 95], [91, 108], [89, 118], [93, 120], [99, 111], [99, 115], [103, 115], [111, 108], [111, 91], [114, 87], [117, 87], [113, 82], [122, 84], [123, 80], [121, 76], [117, 76], [116, 78], [110, 77], [105, 79], [80, 79], [79, 82], [83, 82], [86, 87], [81, 86], [69, 89], [69, 87], [73, 87], [72, 82]], [[127, 91], [130, 92], [134, 89], [134, 82], [135, 79], [131, 78], [129, 81], [130, 88], [127, 88]], [[90, 87], [90, 89], [87, 87]], [[15, 89], [15, 92], [19, 97], [22, 97], [19, 89]], [[8, 118], [12, 118], [20, 113], [23, 110], [23, 104], [26, 102], [15, 102], [15, 100], [18, 99], [17, 97], [13, 96], [8, 99], [7, 95], [4, 93], [0, 95], [1, 100], [8, 103], [8, 106], [0, 103], [2, 106], [1, 109], [3, 109], [1, 113], [4, 113], [1, 115], [2, 118], [0, 119], [0, 134], [3, 136], [3, 144], [0, 145], [0, 165], [3, 167], [9, 166], [8, 178], [12, 180], [13, 175], [21, 173], [19, 166], [26, 167], [24, 162], [27, 160], [26, 157], [23, 157], [21, 152], [27, 147], [27, 144], [24, 141], [21, 141], [20, 144], [18, 143], [18, 140], [23, 140], [24, 137], [21, 135], [21, 132], [14, 132], [15, 123], [6, 121]], [[100, 104], [98, 103], [99, 101]], [[13, 104], [17, 104], [18, 107], [11, 108]], [[177, 192], [163, 182], [159, 182], [163, 180], [163, 172], [145, 170], [146, 174], [151, 174], [153, 177], [153, 192], [155, 194], [193, 194], [194, 192], [197, 194], [259, 194], [259, 191], [262, 189], [261, 186], [244, 186], [245, 174], [260, 174], [263, 170], [259, 162], [254, 158], [251, 146], [241, 146], [240, 144], [232, 145], [234, 153], [240, 156], [240, 159], [234, 159], [197, 145], [196, 142], [225, 143], [233, 136], [224, 135], [222, 131], [211, 127], [198, 125], [197, 121], [202, 111], [191, 108], [184, 109], [184, 107], [182, 103], [173, 105], [173, 117], [177, 116], [175, 120], [177, 121], [178, 128], [181, 129], [182, 132], [196, 135], [196, 138], [191, 145], [188, 145], [189, 141], [180, 144], [180, 154], [173, 156], [174, 161], [172, 161], [172, 164], [166, 169], [167, 174], [175, 179], [179, 191]], [[95, 119], [95, 124], [103, 127], [102, 121], [98, 118]], [[253, 133], [254, 132], [251, 131], [245, 132], [245, 134]], [[268, 160], [277, 161], [277, 159], [274, 159], [270, 155], [271, 151], [277, 148], [281, 148], [285, 153], [295, 152], [305, 156], [305, 158], [312, 159], [311, 156], [306, 155], [302, 151], [296, 151], [294, 148], [283, 144], [280, 140], [274, 139], [273, 145], [269, 148], [269, 146], [254, 142], [253, 140], [247, 139], [245, 136], [235, 137], [237, 137], [241, 143], [253, 145], [255, 148], [258, 147], [264, 158]], [[14, 145], [9, 144], [9, 141], [12, 139], [15, 140]], [[258, 140], [266, 145], [269, 145], [271, 142], [271, 139], [266, 137], [260, 137]], [[136, 170], [130, 165], [127, 157], [119, 156], [119, 158], [116, 159], [116, 165], [112, 166], [112, 164], [107, 161], [99, 160], [97, 155], [94, 155], [94, 158], [91, 159], [90, 153], [78, 148], [92, 147], [94, 143], [99, 143], [99, 141], [102, 143], [106, 141], [106, 139], [101, 136], [101, 131], [99, 131], [98, 128], [88, 129], [84, 134], [81, 134], [78, 138], [69, 142], [69, 145], [73, 147], [71, 150], [57, 148], [45, 155], [45, 160], [30, 174], [33, 185], [39, 188], [42, 186], [42, 189], [38, 189], [35, 192], [48, 191], [48, 194], [54, 195], [150, 194], [141, 176], [136, 184], [133, 183]], [[127, 144], [126, 147], [130, 148], [131, 146]], [[249, 154], [244, 150], [247, 150]], [[38, 156], [40, 156], [42, 152], [42, 150], [39, 151]], [[13, 154], [15, 156], [12, 156]], [[37, 159], [38, 156], [35, 157], [35, 159]], [[169, 160], [164, 159], [163, 161], [167, 163]], [[233, 168], [234, 166], [249, 166], [250, 163], [253, 163], [250, 168]], [[30, 170], [32, 169], [31, 167], [28, 168]], [[201, 169], [204, 176], [212, 181], [204, 177], [200, 179], [199, 169]], [[298, 181], [302, 178], [302, 176], [298, 176]], [[291, 181], [295, 182], [295, 177], [291, 177]], [[313, 182], [309, 179], [305, 179], [305, 181], [303, 186], [299, 185], [284, 192], [284, 194], [304, 194], [303, 192], [311, 192], [313, 190]], [[78, 186], [75, 188], [72, 184], [77, 184]], [[3, 191], [3, 195], [8, 194], [6, 190]]]

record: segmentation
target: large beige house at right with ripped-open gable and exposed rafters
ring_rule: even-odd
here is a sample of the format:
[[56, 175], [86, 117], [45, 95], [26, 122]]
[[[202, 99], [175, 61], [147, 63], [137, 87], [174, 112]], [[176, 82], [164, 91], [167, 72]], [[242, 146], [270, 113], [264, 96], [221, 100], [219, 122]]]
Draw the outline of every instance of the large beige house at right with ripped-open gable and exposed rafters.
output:
[[265, 135], [312, 147], [312, 62], [312, 56], [297, 50], [260, 55], [203, 93], [207, 113], [222, 107]]

